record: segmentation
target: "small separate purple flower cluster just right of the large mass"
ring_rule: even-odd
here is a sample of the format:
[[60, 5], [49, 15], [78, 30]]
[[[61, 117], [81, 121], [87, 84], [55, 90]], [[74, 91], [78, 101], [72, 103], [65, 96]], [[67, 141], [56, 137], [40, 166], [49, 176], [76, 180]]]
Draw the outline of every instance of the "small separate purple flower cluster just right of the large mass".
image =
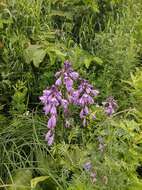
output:
[[114, 100], [112, 96], [108, 97], [106, 102], [103, 102], [103, 105], [104, 105], [105, 113], [108, 116], [111, 116], [118, 107], [117, 102]]

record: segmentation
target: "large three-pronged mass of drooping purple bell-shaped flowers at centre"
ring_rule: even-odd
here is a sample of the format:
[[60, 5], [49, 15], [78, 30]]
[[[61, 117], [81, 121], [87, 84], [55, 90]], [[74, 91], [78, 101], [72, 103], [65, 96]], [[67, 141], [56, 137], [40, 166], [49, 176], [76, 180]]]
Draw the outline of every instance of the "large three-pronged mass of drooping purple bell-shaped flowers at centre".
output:
[[[47, 123], [49, 130], [45, 136], [48, 145], [52, 145], [54, 142], [54, 129], [57, 123], [58, 107], [64, 109], [65, 117], [67, 117], [69, 104], [80, 106], [80, 118], [83, 120], [83, 125], [85, 126], [86, 117], [89, 114], [88, 107], [89, 105], [94, 104], [93, 98], [99, 93], [87, 80], [79, 78], [79, 74], [73, 70], [69, 61], [64, 62], [63, 69], [57, 72], [55, 77], [55, 85], [44, 90], [43, 95], [40, 97], [40, 100], [44, 105], [44, 113], [49, 116]], [[77, 90], [74, 89], [75, 81], [80, 82]], [[66, 92], [62, 93], [63, 89], [66, 89]], [[65, 124], [65, 126], [67, 125]]]

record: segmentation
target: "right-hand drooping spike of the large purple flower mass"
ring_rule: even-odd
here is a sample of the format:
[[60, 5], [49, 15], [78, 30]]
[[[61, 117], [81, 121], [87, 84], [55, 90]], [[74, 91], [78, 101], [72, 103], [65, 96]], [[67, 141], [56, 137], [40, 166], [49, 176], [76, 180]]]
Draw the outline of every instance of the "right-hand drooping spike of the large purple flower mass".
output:
[[81, 107], [80, 118], [83, 119], [83, 125], [86, 125], [86, 116], [89, 114], [88, 106], [94, 104], [93, 97], [97, 96], [98, 90], [95, 90], [87, 80], [81, 79], [78, 90], [72, 93], [73, 103]]

